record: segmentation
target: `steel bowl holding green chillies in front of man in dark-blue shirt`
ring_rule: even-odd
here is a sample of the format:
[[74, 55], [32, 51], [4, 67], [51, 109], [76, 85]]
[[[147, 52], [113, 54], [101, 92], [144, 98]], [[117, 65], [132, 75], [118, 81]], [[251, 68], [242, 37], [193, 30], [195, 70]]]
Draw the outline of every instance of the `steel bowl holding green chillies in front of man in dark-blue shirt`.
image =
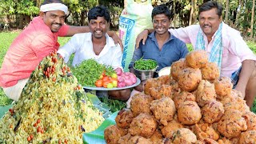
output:
[[[133, 65], [133, 68], [134, 68], [134, 65]], [[156, 72], [157, 68], [158, 68], [158, 65], [152, 70], [138, 70], [134, 68], [134, 74], [141, 81], [145, 81], [146, 79], [154, 78], [154, 72]]]

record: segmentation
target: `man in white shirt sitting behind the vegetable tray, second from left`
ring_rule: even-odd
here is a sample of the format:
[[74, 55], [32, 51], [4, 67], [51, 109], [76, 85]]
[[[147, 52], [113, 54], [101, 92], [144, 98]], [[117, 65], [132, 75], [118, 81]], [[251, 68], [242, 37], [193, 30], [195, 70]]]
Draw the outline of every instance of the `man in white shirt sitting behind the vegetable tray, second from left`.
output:
[[[88, 13], [90, 33], [75, 34], [65, 46], [58, 50], [65, 62], [74, 54], [72, 66], [79, 65], [86, 59], [94, 58], [97, 62], [122, 68], [122, 50], [108, 34], [110, 13], [105, 6], [96, 6]], [[110, 98], [126, 101], [130, 98], [130, 90], [108, 91]]]

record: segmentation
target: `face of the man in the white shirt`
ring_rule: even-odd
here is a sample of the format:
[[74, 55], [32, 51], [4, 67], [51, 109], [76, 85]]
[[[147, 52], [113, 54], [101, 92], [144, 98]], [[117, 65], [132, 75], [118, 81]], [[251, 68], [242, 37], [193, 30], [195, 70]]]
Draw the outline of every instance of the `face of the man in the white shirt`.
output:
[[94, 38], [102, 38], [106, 35], [109, 24], [104, 17], [97, 17], [97, 19], [90, 19], [89, 28]]

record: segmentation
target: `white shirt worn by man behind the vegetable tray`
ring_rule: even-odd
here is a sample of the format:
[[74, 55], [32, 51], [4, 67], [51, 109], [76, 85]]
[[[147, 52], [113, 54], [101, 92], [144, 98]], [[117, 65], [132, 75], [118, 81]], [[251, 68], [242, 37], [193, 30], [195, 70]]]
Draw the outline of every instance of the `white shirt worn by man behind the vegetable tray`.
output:
[[74, 54], [72, 66], [79, 65], [86, 59], [93, 58], [101, 64], [122, 68], [122, 50], [121, 47], [114, 44], [114, 40], [106, 34], [106, 45], [100, 54], [96, 55], [93, 49], [91, 33], [74, 34], [65, 46], [58, 50], [65, 62], [68, 62], [70, 55]]

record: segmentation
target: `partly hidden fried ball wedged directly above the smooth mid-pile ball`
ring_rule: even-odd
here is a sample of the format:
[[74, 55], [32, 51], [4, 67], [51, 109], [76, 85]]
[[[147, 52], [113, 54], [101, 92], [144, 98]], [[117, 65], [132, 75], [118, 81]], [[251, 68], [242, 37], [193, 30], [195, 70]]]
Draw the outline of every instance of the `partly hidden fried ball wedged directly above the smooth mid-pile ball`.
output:
[[179, 108], [179, 106], [186, 101], [193, 101], [195, 102], [195, 96], [194, 94], [191, 94], [190, 92], [181, 91], [179, 93], [174, 94], [174, 104], [176, 109]]

